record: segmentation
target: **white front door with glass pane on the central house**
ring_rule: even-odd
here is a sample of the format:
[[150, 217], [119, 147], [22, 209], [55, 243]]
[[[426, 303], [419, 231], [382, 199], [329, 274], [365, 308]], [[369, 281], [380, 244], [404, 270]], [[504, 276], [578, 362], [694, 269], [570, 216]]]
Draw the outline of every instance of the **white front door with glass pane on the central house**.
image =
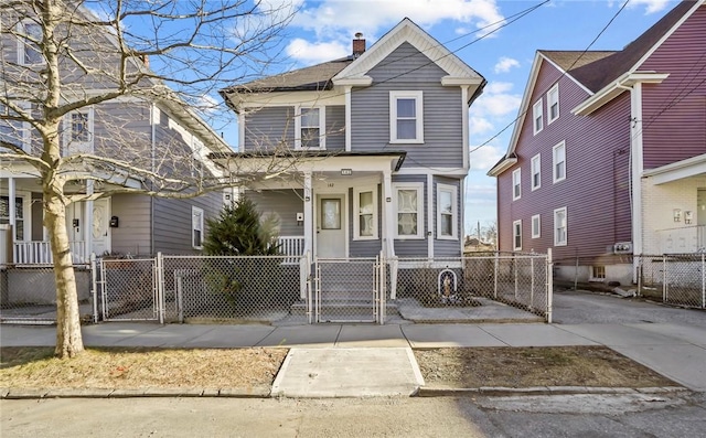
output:
[[343, 258], [345, 253], [345, 196], [322, 194], [317, 203], [317, 256]]

